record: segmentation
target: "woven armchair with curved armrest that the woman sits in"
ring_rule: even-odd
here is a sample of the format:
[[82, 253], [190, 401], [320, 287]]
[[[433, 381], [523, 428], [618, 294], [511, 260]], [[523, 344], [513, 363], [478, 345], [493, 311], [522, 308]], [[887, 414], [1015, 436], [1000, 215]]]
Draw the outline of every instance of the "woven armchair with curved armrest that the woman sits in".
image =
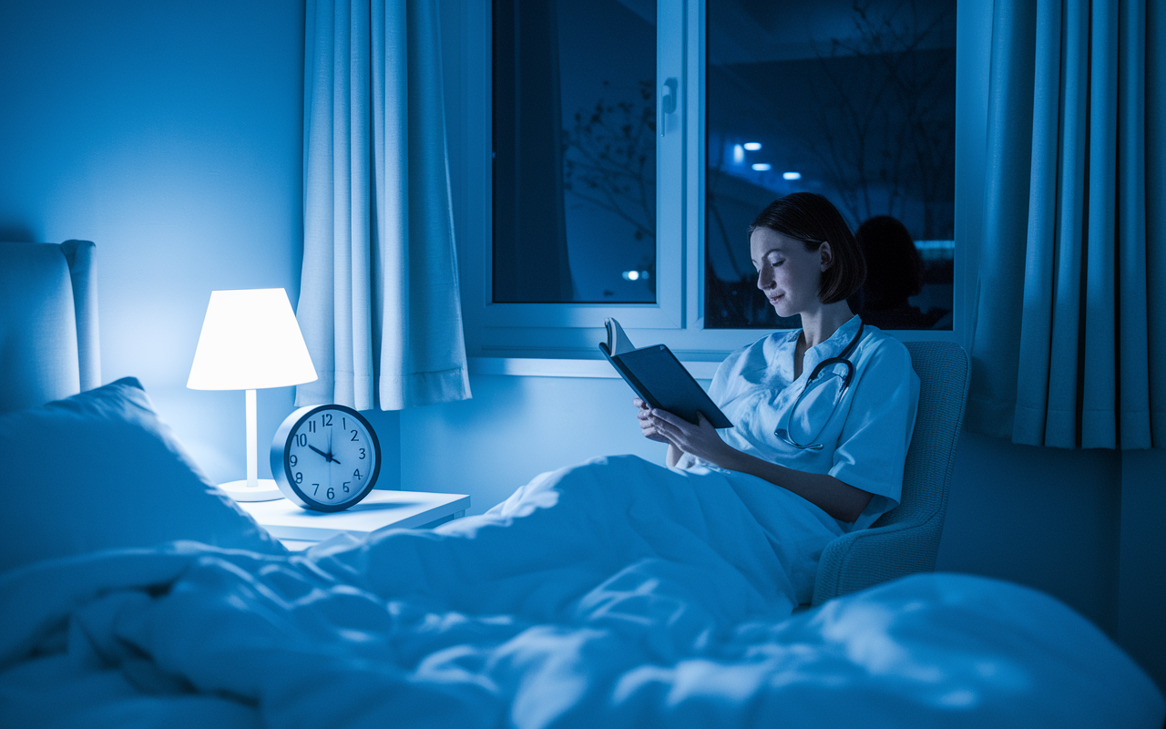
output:
[[919, 409], [899, 505], [822, 552], [814, 605], [887, 580], [935, 569], [971, 363], [954, 342], [905, 342], [919, 376]]

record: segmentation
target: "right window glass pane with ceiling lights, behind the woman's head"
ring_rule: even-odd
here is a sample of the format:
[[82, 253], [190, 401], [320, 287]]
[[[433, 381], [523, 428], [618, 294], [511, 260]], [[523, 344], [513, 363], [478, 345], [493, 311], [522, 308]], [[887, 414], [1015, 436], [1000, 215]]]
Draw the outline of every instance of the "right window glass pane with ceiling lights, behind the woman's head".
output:
[[757, 289], [746, 232], [807, 190], [856, 232], [879, 218], [864, 320], [950, 329], [955, 0], [718, 0], [705, 29], [705, 328], [799, 325]]

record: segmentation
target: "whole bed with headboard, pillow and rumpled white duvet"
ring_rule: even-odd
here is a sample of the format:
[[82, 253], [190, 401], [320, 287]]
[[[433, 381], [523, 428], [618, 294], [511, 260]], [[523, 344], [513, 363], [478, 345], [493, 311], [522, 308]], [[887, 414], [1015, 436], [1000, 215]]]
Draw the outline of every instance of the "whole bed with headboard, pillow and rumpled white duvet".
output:
[[96, 386], [92, 257], [0, 244], [3, 726], [1163, 726], [1056, 600], [919, 574], [795, 611], [747, 509], [651, 491], [627, 456], [289, 553], [141, 383]]

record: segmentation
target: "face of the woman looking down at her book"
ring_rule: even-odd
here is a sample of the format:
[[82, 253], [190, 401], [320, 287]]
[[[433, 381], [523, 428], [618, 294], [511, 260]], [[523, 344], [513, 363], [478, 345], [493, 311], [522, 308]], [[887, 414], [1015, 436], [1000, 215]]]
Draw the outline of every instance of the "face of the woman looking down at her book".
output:
[[757, 268], [757, 288], [778, 316], [794, 316], [822, 306], [817, 289], [830, 264], [829, 243], [807, 251], [805, 241], [758, 227], [749, 238], [749, 248]]

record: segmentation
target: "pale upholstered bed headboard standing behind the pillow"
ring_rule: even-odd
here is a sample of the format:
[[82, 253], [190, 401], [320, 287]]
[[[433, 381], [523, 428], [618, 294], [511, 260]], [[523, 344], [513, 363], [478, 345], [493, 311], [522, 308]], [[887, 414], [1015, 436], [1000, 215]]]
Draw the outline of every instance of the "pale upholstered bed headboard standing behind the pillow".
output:
[[0, 413], [100, 385], [94, 246], [0, 243]]

